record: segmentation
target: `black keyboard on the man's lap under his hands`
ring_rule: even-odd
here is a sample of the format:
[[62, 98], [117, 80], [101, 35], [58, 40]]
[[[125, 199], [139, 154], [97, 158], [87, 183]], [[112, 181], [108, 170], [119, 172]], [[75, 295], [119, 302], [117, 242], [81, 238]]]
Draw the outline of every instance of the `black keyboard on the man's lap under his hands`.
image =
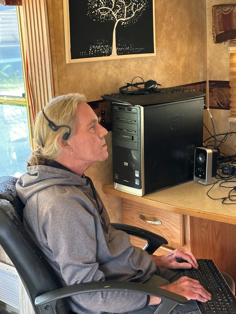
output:
[[196, 279], [211, 293], [211, 301], [197, 302], [202, 314], [236, 314], [236, 298], [211, 259], [197, 259], [199, 269], [180, 269], [182, 276]]

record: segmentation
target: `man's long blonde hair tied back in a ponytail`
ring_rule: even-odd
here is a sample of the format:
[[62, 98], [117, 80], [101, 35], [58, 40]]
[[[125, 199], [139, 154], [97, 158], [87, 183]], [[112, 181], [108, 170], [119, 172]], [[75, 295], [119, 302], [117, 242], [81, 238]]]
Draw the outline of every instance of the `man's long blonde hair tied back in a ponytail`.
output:
[[[55, 125], [68, 125], [71, 129], [70, 136], [73, 136], [76, 131], [76, 110], [83, 101], [86, 101], [84, 94], [60, 95], [49, 100], [43, 111]], [[63, 135], [67, 132], [67, 127], [60, 127], [56, 132], [53, 131], [40, 111], [36, 116], [34, 126], [34, 138], [38, 149], [34, 150], [27, 159], [27, 165], [45, 165], [46, 159], [54, 160], [58, 157], [61, 153], [61, 146], [58, 144], [57, 138], [60, 138], [60, 142], [66, 145]]]

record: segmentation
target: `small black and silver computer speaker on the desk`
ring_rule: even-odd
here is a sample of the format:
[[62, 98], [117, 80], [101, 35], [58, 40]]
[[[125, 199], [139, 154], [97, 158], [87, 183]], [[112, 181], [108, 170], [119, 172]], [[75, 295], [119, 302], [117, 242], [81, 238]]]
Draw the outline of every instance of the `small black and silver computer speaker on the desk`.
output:
[[216, 149], [196, 147], [194, 159], [194, 182], [207, 185], [212, 183], [212, 178], [217, 171]]

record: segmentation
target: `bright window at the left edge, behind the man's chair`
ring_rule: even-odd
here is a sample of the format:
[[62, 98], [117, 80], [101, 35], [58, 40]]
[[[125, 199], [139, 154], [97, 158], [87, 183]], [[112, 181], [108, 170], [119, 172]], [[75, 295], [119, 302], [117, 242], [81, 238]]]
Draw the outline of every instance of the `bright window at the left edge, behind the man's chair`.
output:
[[0, 4], [0, 176], [20, 176], [31, 153], [17, 9]]

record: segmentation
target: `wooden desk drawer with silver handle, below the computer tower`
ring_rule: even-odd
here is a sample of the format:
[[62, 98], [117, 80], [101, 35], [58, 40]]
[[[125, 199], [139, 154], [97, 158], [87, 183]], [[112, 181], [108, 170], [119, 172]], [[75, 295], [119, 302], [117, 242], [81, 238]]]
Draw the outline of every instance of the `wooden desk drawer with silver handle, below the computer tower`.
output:
[[[183, 215], [159, 210], [128, 200], [122, 200], [123, 223], [147, 229], [168, 241], [168, 247], [181, 248], [184, 245]], [[143, 221], [160, 221], [161, 225]]]

